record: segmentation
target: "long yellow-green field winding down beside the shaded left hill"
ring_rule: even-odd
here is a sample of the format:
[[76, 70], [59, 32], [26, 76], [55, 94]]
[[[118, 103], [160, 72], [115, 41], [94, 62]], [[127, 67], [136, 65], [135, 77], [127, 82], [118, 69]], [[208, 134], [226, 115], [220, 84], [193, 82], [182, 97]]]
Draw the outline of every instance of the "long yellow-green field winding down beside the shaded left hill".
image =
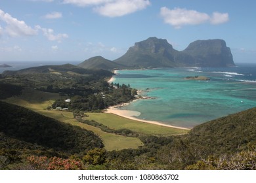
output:
[[105, 145], [104, 148], [106, 148], [106, 150], [122, 150], [127, 148], [138, 148], [139, 146], [143, 146], [143, 143], [140, 141], [139, 138], [124, 137], [121, 135], [106, 133], [104, 131], [101, 131], [101, 129], [99, 129], [98, 127], [93, 127], [91, 125], [77, 122], [77, 120], [74, 119], [72, 112], [45, 110], [45, 108], [53, 104], [53, 99], [58, 99], [58, 96], [59, 95], [55, 93], [39, 92], [36, 90], [26, 90], [22, 95], [18, 97], [11, 97], [5, 101], [8, 103], [29, 108], [30, 110], [33, 110], [35, 112], [38, 112], [39, 114], [43, 114], [50, 118], [54, 118], [56, 120], [59, 120], [60, 122], [77, 125], [79, 127], [82, 127], [83, 129], [93, 131], [96, 135], [100, 137], [100, 139], [102, 139]]

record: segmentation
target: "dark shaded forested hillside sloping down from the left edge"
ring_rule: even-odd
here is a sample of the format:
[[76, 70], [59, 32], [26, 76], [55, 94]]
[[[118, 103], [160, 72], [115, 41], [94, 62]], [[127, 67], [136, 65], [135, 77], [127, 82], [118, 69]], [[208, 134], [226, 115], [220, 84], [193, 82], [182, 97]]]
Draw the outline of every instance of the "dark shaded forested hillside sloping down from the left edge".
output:
[[[103, 147], [102, 140], [91, 131], [2, 101], [0, 109], [0, 149], [36, 149], [34, 144], [37, 144], [45, 150], [75, 154]], [[8, 139], [19, 143], [8, 144]], [[19, 144], [27, 144], [27, 147]]]

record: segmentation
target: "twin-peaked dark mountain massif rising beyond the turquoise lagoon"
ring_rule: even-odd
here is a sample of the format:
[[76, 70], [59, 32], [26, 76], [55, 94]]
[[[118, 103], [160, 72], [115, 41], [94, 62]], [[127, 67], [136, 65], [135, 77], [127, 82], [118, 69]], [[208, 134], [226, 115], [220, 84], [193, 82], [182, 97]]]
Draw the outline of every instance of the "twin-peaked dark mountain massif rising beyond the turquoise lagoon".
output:
[[179, 52], [165, 39], [150, 37], [114, 60], [133, 68], [154, 67], [232, 67], [230, 48], [221, 39], [195, 41]]

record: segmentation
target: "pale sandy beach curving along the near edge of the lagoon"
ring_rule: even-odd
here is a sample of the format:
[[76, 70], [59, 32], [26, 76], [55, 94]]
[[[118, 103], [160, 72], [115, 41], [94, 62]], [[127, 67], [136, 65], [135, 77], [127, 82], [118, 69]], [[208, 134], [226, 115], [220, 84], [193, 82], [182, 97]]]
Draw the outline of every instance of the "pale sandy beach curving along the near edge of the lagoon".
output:
[[[137, 101], [137, 99], [135, 99], [135, 101]], [[124, 103], [123, 105], [128, 105], [128, 104], [129, 103]], [[130, 120], [135, 120], [137, 122], [144, 122], [144, 123], [148, 123], [148, 124], [161, 125], [161, 126], [164, 126], [164, 127], [172, 127], [172, 128], [176, 128], [176, 129], [190, 130], [189, 128], [186, 128], [186, 127], [167, 125], [167, 124], [162, 124], [161, 122], [157, 122], [157, 121], [142, 120], [142, 119], [136, 118], [136, 116], [140, 115], [140, 112], [134, 111], [134, 110], [122, 110], [122, 109], [118, 108], [118, 107], [123, 106], [123, 105], [116, 105], [116, 106], [109, 107], [109, 108], [106, 109], [106, 111], [104, 111], [104, 113], [116, 114], [117, 116], [121, 116], [123, 118], [127, 118], [127, 119], [130, 119]]]

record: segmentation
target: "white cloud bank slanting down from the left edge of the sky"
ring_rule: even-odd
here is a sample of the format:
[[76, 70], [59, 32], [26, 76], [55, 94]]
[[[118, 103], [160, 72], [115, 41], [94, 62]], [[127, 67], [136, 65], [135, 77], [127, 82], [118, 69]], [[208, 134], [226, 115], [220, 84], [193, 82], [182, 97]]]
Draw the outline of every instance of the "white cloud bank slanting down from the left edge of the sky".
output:
[[24, 21], [13, 18], [10, 14], [3, 12], [3, 10], [0, 10], [0, 20], [7, 24], [2, 31], [5, 31], [11, 37], [37, 35], [37, 29], [28, 26]]

